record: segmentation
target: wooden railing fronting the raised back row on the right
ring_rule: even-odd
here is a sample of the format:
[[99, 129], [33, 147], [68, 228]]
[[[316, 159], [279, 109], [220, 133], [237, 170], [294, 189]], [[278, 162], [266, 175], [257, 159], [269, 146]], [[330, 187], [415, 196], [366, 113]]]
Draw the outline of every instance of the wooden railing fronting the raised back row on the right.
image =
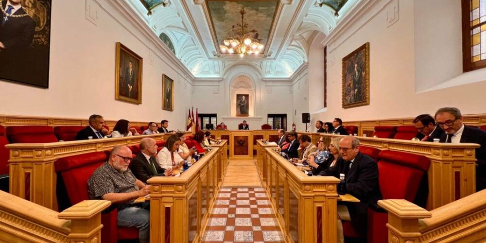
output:
[[[303, 134], [303, 133], [301, 133]], [[306, 133], [319, 137], [344, 137], [335, 134]], [[428, 172], [427, 209], [432, 210], [476, 192], [475, 143], [434, 143], [402, 139], [358, 137], [361, 145], [426, 156], [431, 160]]]

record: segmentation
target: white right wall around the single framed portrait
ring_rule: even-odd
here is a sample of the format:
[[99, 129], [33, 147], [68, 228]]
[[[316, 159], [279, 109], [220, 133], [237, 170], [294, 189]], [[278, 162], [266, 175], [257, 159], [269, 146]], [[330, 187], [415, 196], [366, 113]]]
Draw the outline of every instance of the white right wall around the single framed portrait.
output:
[[[359, 121], [415, 117], [422, 113], [434, 114], [443, 106], [456, 106], [464, 114], [485, 113], [486, 82], [479, 82], [486, 79], [485, 70], [454, 77], [458, 67], [462, 67], [462, 58], [457, 54], [457, 50], [462, 50], [457, 44], [461, 17], [451, 8], [460, 8], [460, 0], [381, 0], [339, 35], [325, 40], [328, 44], [328, 108], [325, 112], [317, 112], [316, 118], [331, 121], [341, 117], [344, 121]], [[391, 17], [398, 21], [390, 21]], [[443, 18], [454, 19], [453, 24], [442, 22]], [[437, 33], [436, 29], [443, 32]], [[366, 42], [370, 43], [370, 104], [343, 109], [341, 60]], [[319, 61], [310, 56], [309, 69], [322, 67]], [[451, 80], [477, 83], [437, 89]], [[434, 85], [436, 90], [417, 92], [417, 89]], [[311, 95], [310, 103], [321, 102], [321, 99]], [[318, 107], [312, 108], [318, 110]]]

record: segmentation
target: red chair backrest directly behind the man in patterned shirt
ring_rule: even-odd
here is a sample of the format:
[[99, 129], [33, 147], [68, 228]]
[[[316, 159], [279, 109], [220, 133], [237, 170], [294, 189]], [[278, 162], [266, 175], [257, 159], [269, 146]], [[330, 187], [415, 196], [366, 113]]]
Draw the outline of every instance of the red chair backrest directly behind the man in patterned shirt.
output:
[[88, 198], [88, 179], [107, 159], [104, 152], [93, 152], [60, 158], [55, 162], [72, 205]]

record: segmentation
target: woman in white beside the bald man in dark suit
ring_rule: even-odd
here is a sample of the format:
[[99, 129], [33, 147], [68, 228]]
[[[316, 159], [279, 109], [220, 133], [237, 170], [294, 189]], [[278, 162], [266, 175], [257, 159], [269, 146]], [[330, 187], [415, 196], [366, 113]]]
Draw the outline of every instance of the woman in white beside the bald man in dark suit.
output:
[[177, 135], [172, 135], [165, 142], [165, 147], [157, 154], [157, 160], [163, 169], [178, 170], [184, 165], [184, 159], [179, 155], [179, 145], [181, 139]]

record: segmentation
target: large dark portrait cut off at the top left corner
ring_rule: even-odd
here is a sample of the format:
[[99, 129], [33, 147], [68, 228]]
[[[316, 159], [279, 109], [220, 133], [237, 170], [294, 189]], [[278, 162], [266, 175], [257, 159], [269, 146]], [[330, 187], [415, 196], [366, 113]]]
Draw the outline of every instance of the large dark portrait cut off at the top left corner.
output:
[[48, 88], [51, 0], [0, 2], [0, 80]]

